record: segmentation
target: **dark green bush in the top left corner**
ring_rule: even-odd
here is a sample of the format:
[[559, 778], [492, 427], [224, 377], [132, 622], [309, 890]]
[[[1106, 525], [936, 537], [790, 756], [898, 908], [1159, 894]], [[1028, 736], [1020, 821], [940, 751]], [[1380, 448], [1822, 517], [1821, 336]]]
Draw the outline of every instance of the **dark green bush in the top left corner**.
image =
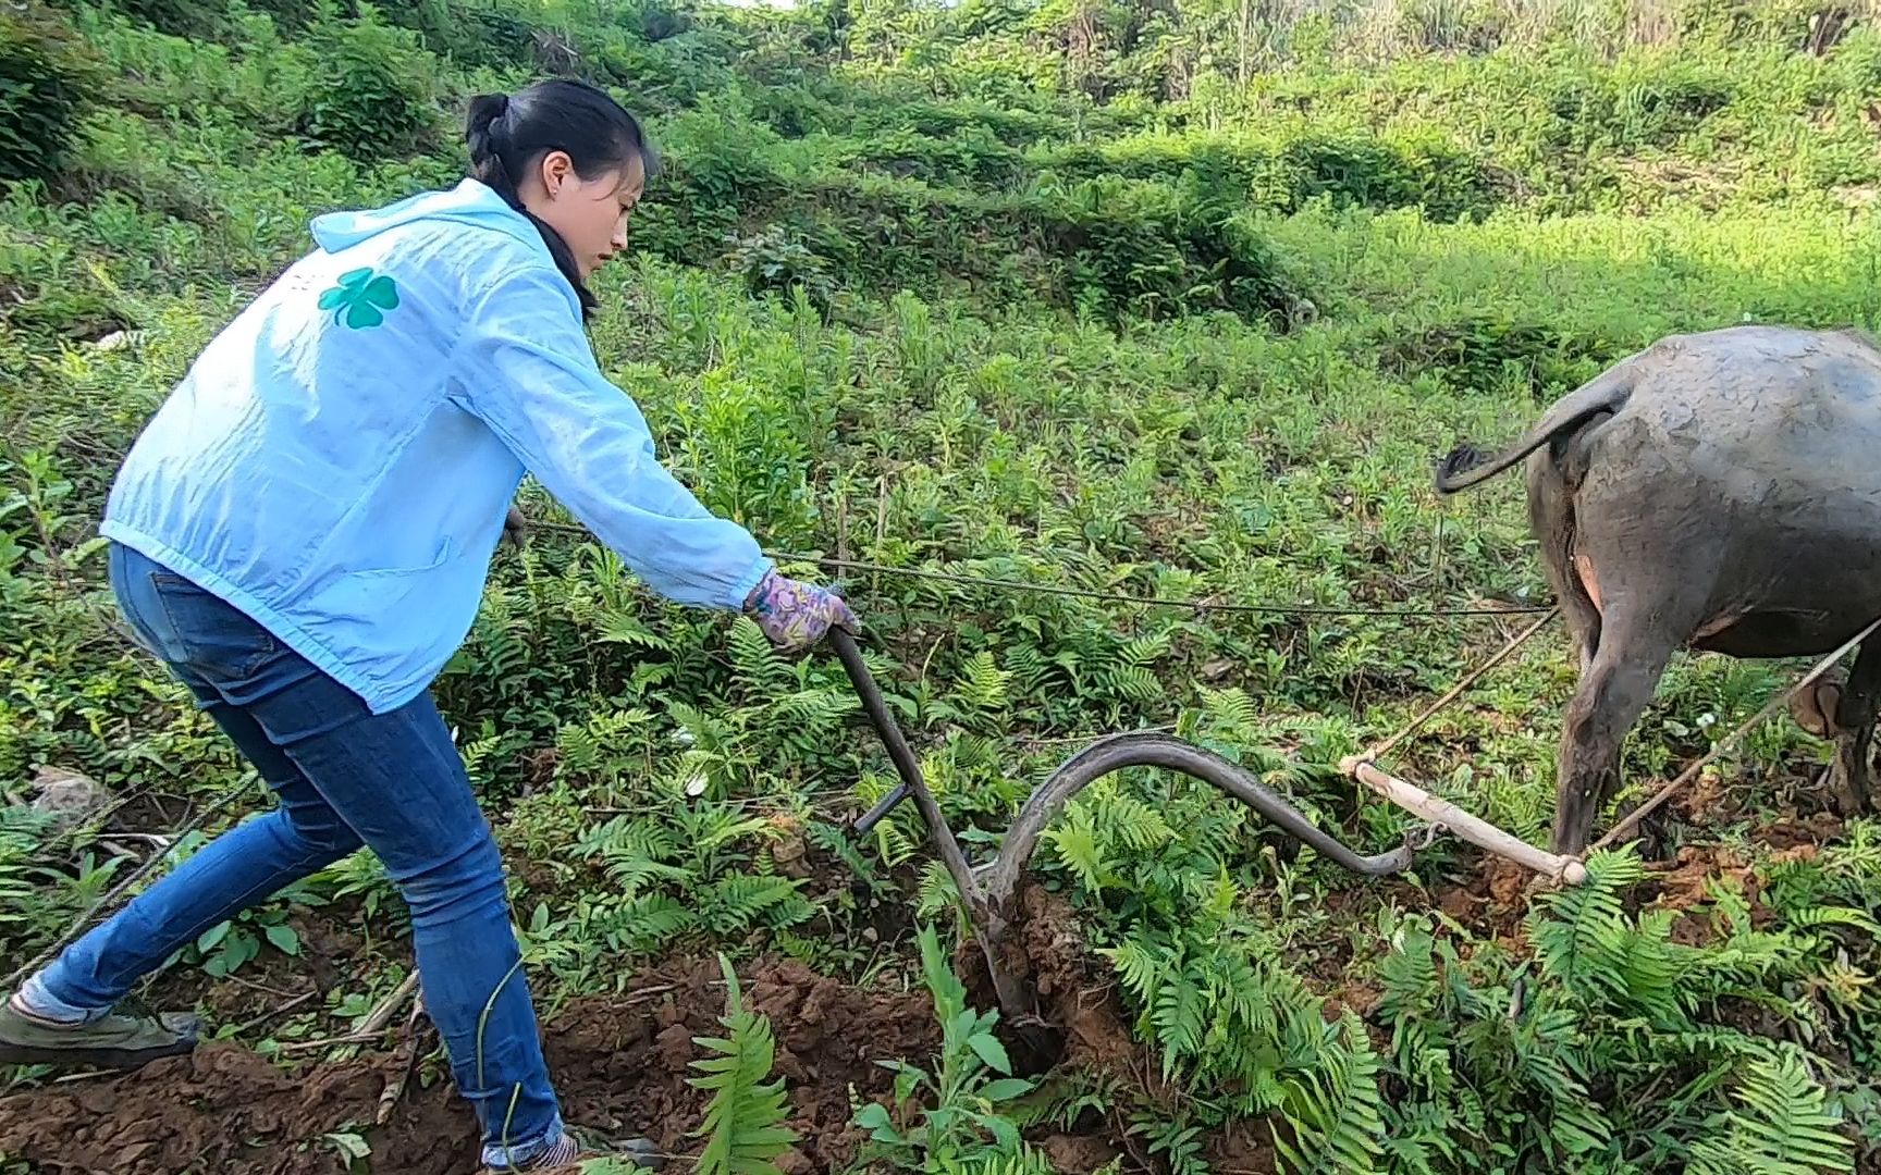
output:
[[58, 175], [96, 79], [90, 53], [51, 13], [0, 6], [0, 180]]

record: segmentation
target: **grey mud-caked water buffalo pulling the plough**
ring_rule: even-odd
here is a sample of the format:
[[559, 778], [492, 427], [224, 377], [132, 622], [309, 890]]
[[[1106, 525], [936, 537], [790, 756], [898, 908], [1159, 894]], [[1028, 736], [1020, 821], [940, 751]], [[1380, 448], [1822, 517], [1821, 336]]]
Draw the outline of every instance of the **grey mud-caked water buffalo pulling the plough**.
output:
[[[1620, 748], [1678, 649], [1823, 656], [1881, 615], [1881, 348], [1858, 331], [1672, 335], [1561, 397], [1516, 447], [1463, 446], [1452, 494], [1527, 459], [1529, 525], [1580, 652], [1554, 852], [1588, 846]], [[1791, 705], [1868, 807], [1881, 637]]]

